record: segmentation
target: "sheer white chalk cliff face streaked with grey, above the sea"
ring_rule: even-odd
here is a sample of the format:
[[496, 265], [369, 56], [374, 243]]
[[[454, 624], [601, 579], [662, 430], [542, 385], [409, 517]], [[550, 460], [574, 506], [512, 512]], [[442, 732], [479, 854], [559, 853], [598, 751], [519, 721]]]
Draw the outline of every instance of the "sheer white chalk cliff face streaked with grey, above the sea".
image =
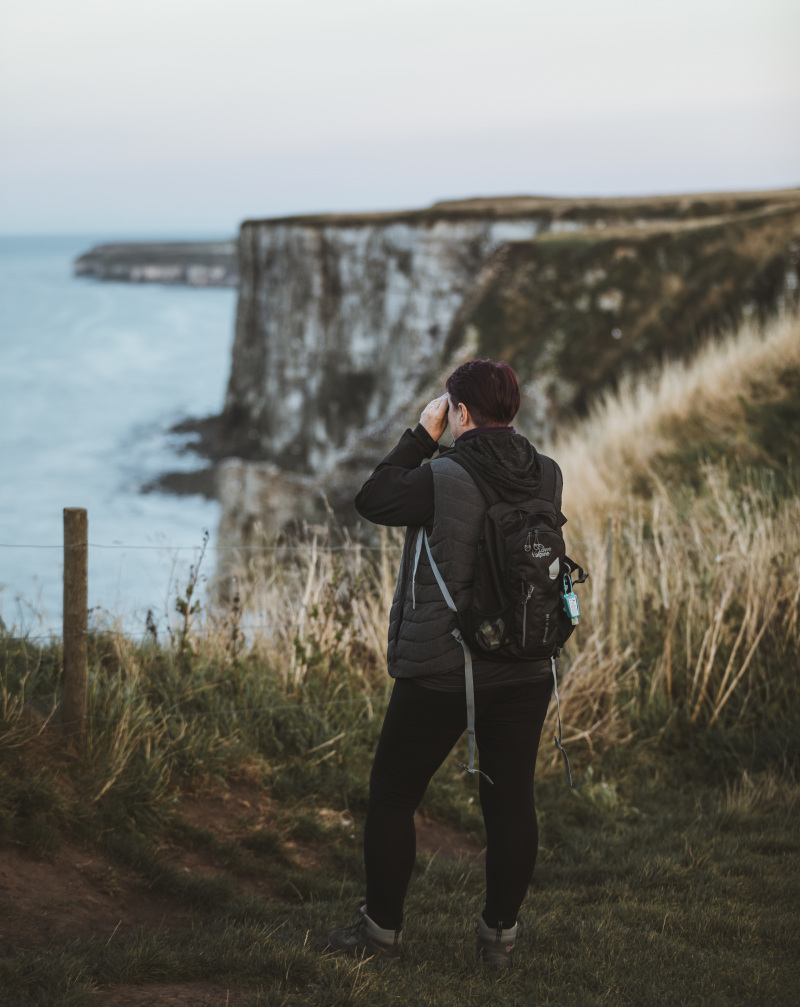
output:
[[264, 456], [319, 473], [413, 398], [500, 245], [541, 214], [263, 221], [243, 226], [226, 414]]

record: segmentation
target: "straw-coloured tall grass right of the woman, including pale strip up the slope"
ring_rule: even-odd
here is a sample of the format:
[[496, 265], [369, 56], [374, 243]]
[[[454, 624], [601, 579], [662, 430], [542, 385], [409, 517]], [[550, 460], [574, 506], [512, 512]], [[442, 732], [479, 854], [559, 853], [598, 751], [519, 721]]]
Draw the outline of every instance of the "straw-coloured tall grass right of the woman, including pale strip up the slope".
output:
[[[745, 324], [693, 359], [627, 381], [551, 447], [564, 472], [567, 547], [591, 570], [563, 696], [575, 739], [619, 743], [654, 705], [694, 724], [747, 724], [794, 688], [800, 500], [769, 471], [705, 465], [702, 488], [668, 485], [659, 457], [683, 432], [729, 437], [754, 391], [800, 371], [800, 319]], [[636, 482], [652, 487], [632, 492]], [[611, 570], [608, 566], [612, 519]], [[611, 573], [612, 579], [609, 578]], [[609, 617], [610, 616], [610, 617]]]

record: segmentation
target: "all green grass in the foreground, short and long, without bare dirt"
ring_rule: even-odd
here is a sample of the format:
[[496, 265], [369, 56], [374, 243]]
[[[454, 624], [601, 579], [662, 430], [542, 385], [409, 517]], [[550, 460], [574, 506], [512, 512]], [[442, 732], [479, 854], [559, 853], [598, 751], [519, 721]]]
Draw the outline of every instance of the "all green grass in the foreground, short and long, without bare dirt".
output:
[[[23, 649], [14, 646], [21, 673]], [[136, 653], [143, 677], [125, 704], [115, 706], [125, 675], [113, 662], [97, 686], [111, 717], [90, 725], [94, 761], [46, 732], [3, 753], [0, 822], [6, 839], [41, 855], [65, 835], [101, 849], [144, 887], [188, 909], [191, 923], [21, 950], [0, 962], [0, 1003], [94, 1004], [97, 987], [199, 980], [219, 984], [221, 1003], [236, 986], [252, 990], [253, 1004], [320, 1007], [797, 1002], [800, 787], [785, 732], [771, 746], [766, 731], [698, 727], [685, 713], [653, 708], [650, 720], [631, 721], [639, 740], [623, 749], [589, 758], [573, 746], [576, 789], [548, 773], [537, 786], [541, 845], [520, 917], [518, 968], [487, 975], [475, 963], [482, 865], [426, 856], [407, 901], [404, 961], [359, 967], [326, 956], [324, 934], [354, 919], [364, 895], [361, 830], [380, 703], [372, 716], [358, 702], [308, 712], [283, 694], [287, 720], [279, 729], [268, 726], [275, 716], [223, 730], [214, 717], [196, 716], [222, 702], [202, 688], [213, 670], [199, 658], [186, 680], [168, 668], [164, 674], [168, 655]], [[145, 672], [158, 676], [157, 688]], [[31, 710], [48, 707], [54, 685], [41, 678]], [[268, 679], [259, 688], [259, 703], [277, 705]], [[120, 769], [114, 739], [127, 737], [126, 716], [140, 728], [150, 724], [152, 711], [137, 719], [136, 710], [151, 693], [173, 711], [187, 696], [193, 729], [156, 731], [149, 761], [139, 738], [144, 747]], [[304, 747], [343, 733], [341, 748], [328, 746], [334, 755], [322, 761], [327, 748]], [[251, 768], [256, 760], [273, 820], [243, 820], [223, 841], [188, 823], [180, 794], [187, 786], [202, 794], [243, 758]], [[353, 829], [326, 826], [319, 807], [349, 809]], [[482, 835], [476, 787], [454, 758], [423, 808]], [[291, 840], [316, 851], [312, 866], [296, 860]], [[181, 849], [202, 851], [213, 872], [176, 866], [169, 854]], [[266, 880], [271, 897], [249, 891], [251, 879]]]

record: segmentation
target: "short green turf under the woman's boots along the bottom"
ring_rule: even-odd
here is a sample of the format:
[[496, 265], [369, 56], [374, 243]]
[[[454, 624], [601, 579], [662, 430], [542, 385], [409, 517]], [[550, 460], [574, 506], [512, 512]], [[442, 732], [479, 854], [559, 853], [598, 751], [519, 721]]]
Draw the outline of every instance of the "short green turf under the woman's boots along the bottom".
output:
[[320, 1007], [796, 1003], [800, 788], [774, 774], [711, 787], [696, 768], [677, 788], [646, 773], [630, 788], [593, 775], [576, 793], [540, 786], [539, 864], [510, 974], [476, 965], [483, 870], [470, 861], [419, 858], [399, 966], [324, 955], [326, 929], [363, 893], [358, 850], [328, 839], [325, 869], [295, 872], [293, 904], [218, 892], [197, 908], [175, 890], [197, 909], [190, 926], [18, 954], [0, 966], [0, 1003], [88, 1005], [98, 985], [197, 980], [252, 988], [254, 1004]]

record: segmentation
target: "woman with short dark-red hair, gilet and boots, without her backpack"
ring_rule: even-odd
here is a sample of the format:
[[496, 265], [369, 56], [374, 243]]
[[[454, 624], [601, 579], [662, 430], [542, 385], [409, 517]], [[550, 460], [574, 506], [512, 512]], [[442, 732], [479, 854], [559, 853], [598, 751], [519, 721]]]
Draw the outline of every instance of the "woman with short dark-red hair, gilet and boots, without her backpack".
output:
[[[408, 526], [389, 627], [389, 674], [395, 679], [370, 777], [364, 836], [367, 902], [354, 926], [328, 944], [356, 956], [398, 958], [403, 903], [416, 853], [414, 812], [436, 769], [466, 726], [464, 652], [426, 555], [462, 611], [472, 596], [488, 501], [479, 483], [509, 502], [540, 493], [545, 463], [560, 471], [510, 425], [520, 391], [507, 364], [471, 361], [447, 379], [416, 429], [406, 430], [356, 497], [364, 518]], [[449, 425], [451, 448], [438, 440]], [[457, 459], [457, 461], [455, 460]], [[472, 473], [472, 474], [471, 474]], [[476, 481], [478, 480], [478, 481]], [[486, 904], [478, 920], [484, 963], [512, 964], [517, 913], [536, 862], [533, 801], [536, 753], [552, 689], [549, 660], [498, 663], [475, 654], [475, 732], [480, 798], [487, 832]]]

